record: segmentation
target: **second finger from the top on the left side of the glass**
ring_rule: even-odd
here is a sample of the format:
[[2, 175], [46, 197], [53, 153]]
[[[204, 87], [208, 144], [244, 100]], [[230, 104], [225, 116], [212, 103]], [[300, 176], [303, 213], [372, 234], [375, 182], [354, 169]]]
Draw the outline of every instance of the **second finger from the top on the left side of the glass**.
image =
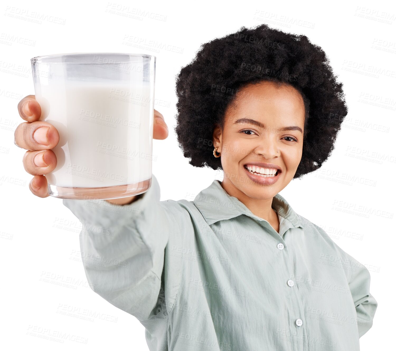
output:
[[21, 123], [14, 137], [17, 146], [30, 151], [53, 149], [59, 143], [57, 129], [44, 121]]

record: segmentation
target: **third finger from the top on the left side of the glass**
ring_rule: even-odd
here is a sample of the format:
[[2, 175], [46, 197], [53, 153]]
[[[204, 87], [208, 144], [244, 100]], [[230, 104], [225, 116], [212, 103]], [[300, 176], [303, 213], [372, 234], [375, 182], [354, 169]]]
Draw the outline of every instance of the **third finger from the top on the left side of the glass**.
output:
[[23, 167], [32, 175], [48, 174], [55, 169], [56, 165], [56, 155], [52, 150], [26, 151], [23, 155]]

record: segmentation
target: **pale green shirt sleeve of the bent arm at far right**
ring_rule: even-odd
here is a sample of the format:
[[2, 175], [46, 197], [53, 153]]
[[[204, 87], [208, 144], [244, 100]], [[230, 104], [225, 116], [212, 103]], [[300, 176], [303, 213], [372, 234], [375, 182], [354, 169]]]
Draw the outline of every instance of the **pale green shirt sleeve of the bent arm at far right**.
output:
[[356, 308], [359, 338], [373, 326], [373, 318], [378, 303], [370, 293], [370, 273], [358, 260], [348, 255], [340, 247], [338, 249], [344, 256], [343, 266], [349, 276], [349, 289]]

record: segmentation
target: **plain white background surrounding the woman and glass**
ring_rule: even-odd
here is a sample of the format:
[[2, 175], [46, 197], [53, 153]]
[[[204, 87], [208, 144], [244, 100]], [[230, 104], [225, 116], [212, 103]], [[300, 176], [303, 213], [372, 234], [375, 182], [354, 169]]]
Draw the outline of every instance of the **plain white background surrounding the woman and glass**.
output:
[[[73, 52], [155, 55], [155, 98], [169, 106], [155, 108], [168, 123], [169, 137], [154, 140], [153, 174], [161, 200], [193, 200], [222, 174], [192, 167], [177, 145], [175, 77], [202, 43], [263, 22], [307, 35], [324, 49], [344, 83], [348, 115], [333, 154], [281, 195], [370, 270], [370, 291], [379, 307], [373, 327], [360, 338], [361, 350], [394, 345], [396, 8], [390, 2], [7, 1], [0, 18], [2, 349], [148, 349], [143, 326], [95, 294], [82, 262], [73, 260], [80, 249], [80, 222], [61, 199], [29, 191], [33, 176], [23, 168], [25, 150], [13, 138], [23, 122], [17, 104], [34, 94], [30, 58]], [[64, 224], [55, 228], [60, 221]], [[40, 281], [46, 274], [59, 278]], [[76, 283], [57, 285], [67, 279]], [[80, 313], [59, 313], [70, 309]], [[84, 320], [84, 309], [101, 317]], [[30, 335], [33, 329], [37, 332]], [[87, 343], [42, 338], [48, 331]]]

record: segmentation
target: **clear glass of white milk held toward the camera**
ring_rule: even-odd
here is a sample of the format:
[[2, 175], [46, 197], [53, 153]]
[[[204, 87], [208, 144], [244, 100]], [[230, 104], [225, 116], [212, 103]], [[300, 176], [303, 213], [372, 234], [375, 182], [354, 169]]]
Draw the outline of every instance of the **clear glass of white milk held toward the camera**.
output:
[[155, 62], [130, 53], [31, 59], [40, 121], [60, 137], [57, 166], [45, 174], [49, 195], [112, 199], [150, 188]]

